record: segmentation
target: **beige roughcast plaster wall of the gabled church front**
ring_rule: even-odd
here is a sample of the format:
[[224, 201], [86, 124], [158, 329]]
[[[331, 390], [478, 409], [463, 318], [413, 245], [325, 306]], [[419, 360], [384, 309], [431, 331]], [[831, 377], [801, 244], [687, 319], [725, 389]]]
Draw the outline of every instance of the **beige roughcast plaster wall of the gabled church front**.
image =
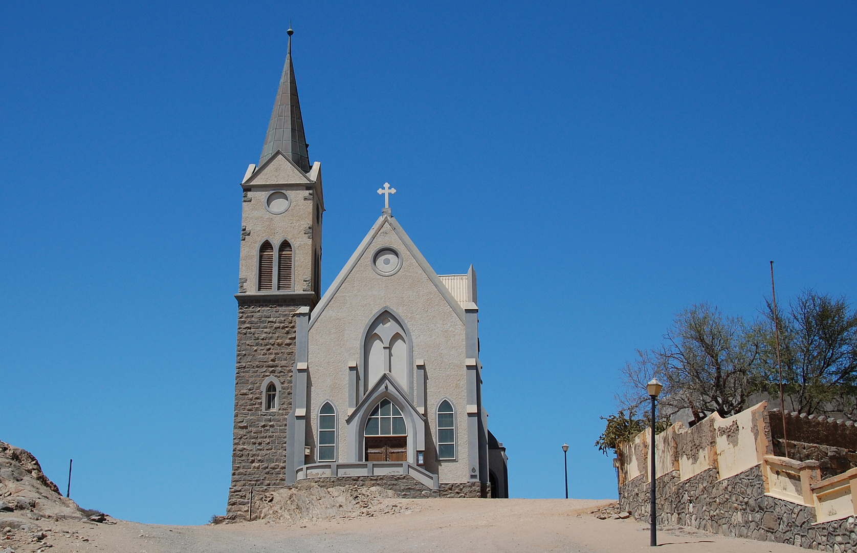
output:
[[[393, 246], [402, 255], [402, 268], [393, 276], [381, 276], [370, 265], [371, 255], [383, 245]], [[390, 307], [402, 316], [411, 331], [413, 358], [425, 359], [426, 417], [430, 429], [430, 435], [426, 436], [426, 469], [438, 473], [440, 482], [467, 482], [464, 323], [387, 222], [309, 330], [312, 387], [308, 414], [311, 412], [313, 417], [312, 431], [315, 433], [317, 428], [315, 418], [322, 401], [332, 400], [339, 412], [339, 461], [348, 459], [345, 425], [348, 363], [358, 360], [363, 328], [383, 307]], [[360, 363], [362, 365], [363, 361]], [[416, 379], [416, 368], [411, 366], [410, 369]], [[434, 410], [443, 398], [452, 400], [456, 409], [458, 460], [439, 464], [435, 462], [437, 421]]]

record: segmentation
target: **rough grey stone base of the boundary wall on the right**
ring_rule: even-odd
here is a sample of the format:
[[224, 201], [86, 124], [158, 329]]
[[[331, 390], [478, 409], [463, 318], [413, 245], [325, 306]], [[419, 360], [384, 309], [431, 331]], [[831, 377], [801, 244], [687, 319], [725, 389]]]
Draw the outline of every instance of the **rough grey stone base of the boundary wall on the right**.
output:
[[[649, 488], [644, 476], [619, 488], [619, 505], [649, 521]], [[717, 480], [709, 469], [679, 481], [678, 471], [656, 481], [657, 524], [692, 526], [736, 538], [797, 545], [806, 549], [857, 551], [857, 520], [833, 520], [813, 526], [815, 509], [764, 495], [760, 466]]]

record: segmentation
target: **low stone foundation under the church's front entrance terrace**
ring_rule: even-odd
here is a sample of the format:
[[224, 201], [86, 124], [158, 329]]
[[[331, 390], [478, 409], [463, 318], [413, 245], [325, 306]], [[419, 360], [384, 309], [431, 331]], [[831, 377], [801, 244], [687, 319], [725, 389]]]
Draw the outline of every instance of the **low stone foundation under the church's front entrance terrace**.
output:
[[440, 484], [440, 490], [432, 490], [407, 474], [384, 474], [381, 476], [340, 476], [338, 478], [306, 478], [292, 484], [293, 489], [302, 490], [310, 486], [333, 488], [336, 486], [378, 486], [392, 490], [399, 497], [422, 499], [424, 497], [489, 497], [489, 484], [463, 482]]

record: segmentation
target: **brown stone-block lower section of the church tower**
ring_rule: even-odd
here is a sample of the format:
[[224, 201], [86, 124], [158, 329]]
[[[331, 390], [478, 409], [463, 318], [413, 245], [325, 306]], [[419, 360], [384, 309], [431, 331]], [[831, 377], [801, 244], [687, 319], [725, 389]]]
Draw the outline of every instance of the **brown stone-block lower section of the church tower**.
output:
[[[286, 427], [291, 412], [291, 374], [295, 365], [298, 305], [287, 299], [239, 304], [232, 430], [232, 484], [227, 514], [246, 514], [249, 489], [285, 486]], [[280, 384], [279, 405], [263, 411], [262, 383]]]

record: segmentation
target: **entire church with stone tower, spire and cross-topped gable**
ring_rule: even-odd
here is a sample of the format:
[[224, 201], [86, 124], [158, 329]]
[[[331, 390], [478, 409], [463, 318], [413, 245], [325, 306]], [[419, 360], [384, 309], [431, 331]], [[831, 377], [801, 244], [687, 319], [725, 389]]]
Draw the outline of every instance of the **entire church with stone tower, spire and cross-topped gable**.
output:
[[506, 450], [482, 404], [473, 267], [435, 273], [385, 183], [381, 216], [321, 293], [321, 163], [309, 162], [288, 34], [261, 158], [241, 183], [227, 514], [247, 514], [254, 491], [308, 483], [507, 497]]

